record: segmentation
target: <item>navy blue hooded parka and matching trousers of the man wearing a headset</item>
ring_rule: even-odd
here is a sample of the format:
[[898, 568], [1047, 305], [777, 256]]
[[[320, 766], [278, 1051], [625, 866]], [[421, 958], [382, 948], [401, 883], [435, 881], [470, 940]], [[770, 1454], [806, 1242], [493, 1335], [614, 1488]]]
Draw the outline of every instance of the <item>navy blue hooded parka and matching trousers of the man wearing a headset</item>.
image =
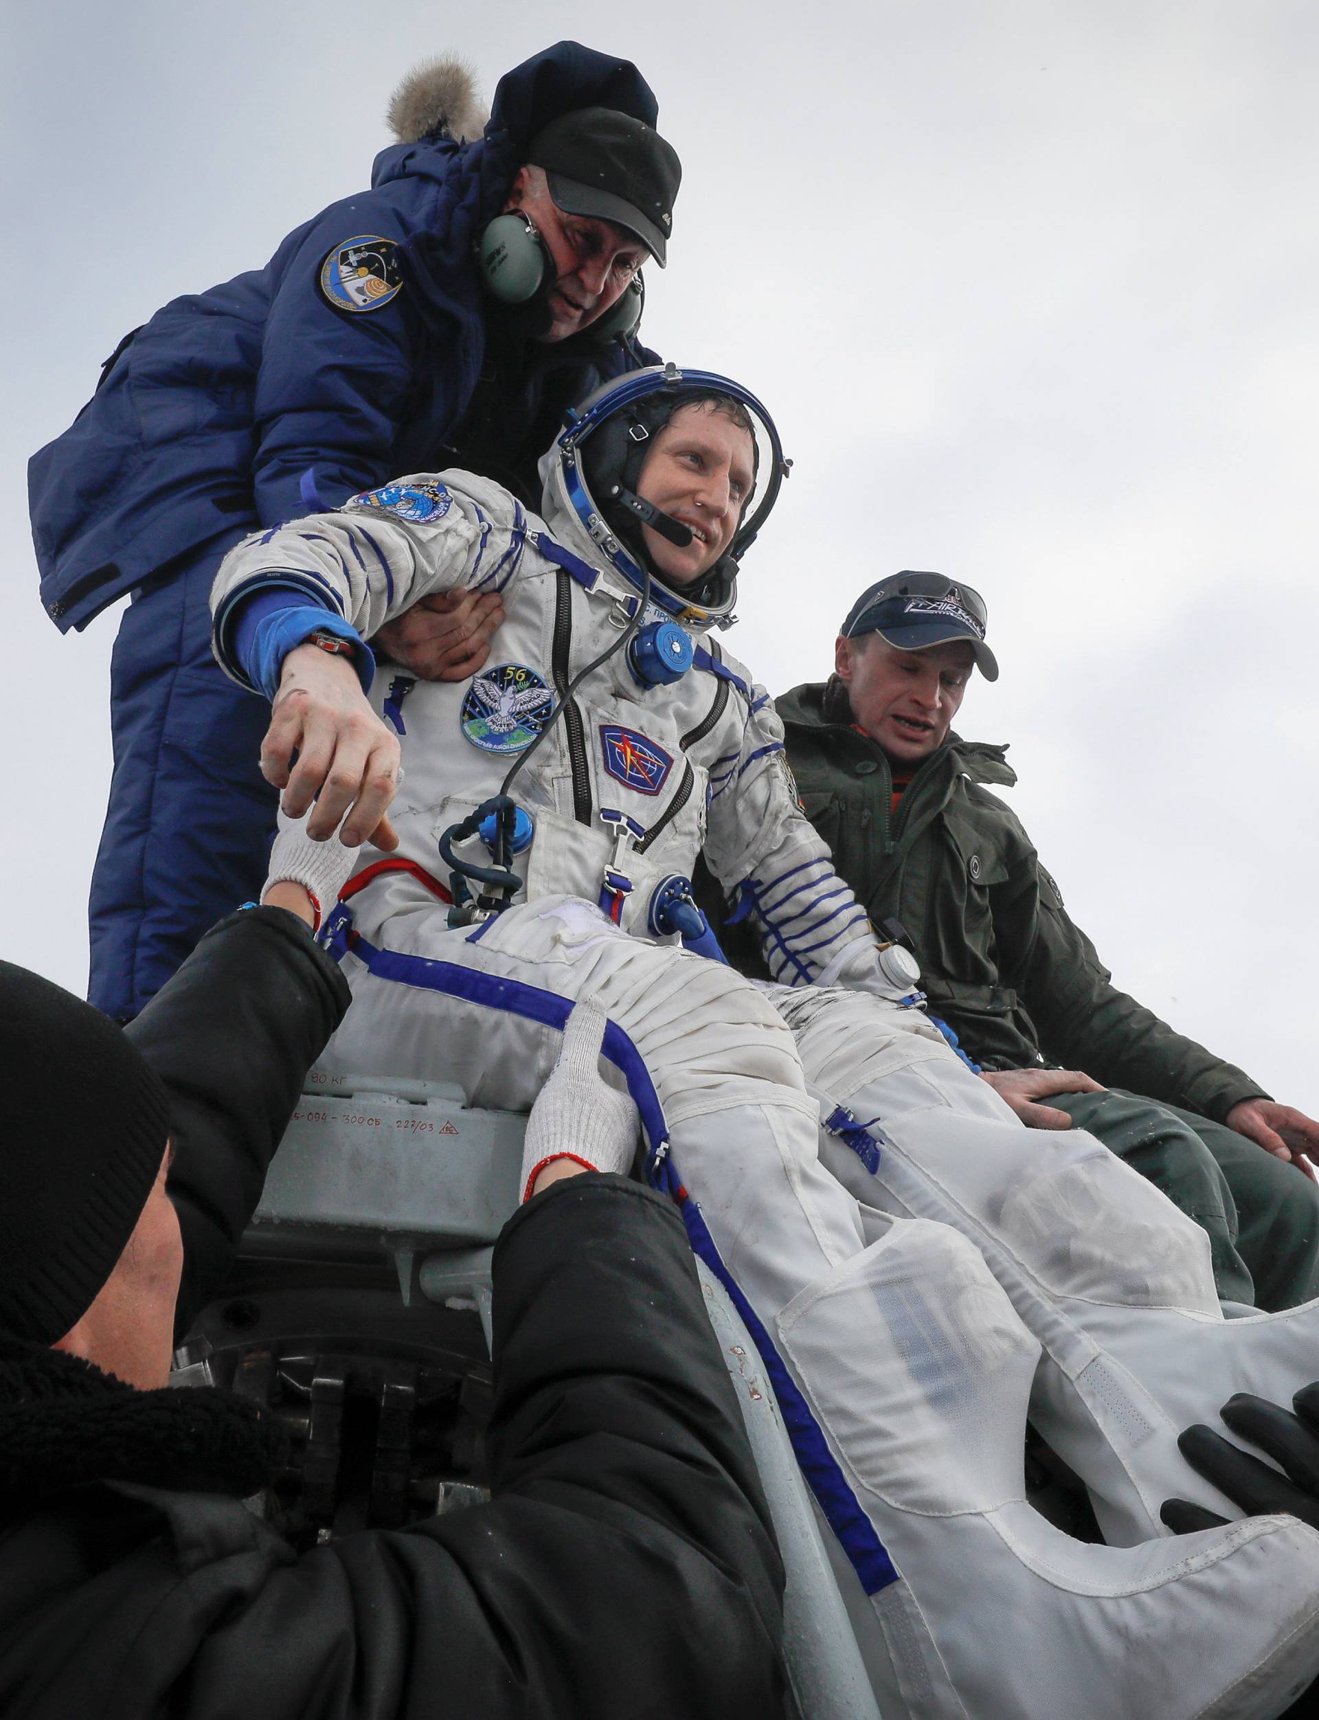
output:
[[[289, 234], [265, 268], [156, 311], [33, 458], [46, 612], [65, 631], [134, 595], [115, 645], [115, 777], [91, 891], [91, 998], [107, 1013], [136, 1015], [263, 877], [265, 714], [210, 657], [206, 595], [224, 552], [401, 471], [463, 464], [488, 358], [473, 241], [531, 138], [581, 107], [657, 120], [635, 65], [571, 41], [500, 79], [483, 136], [456, 64], [414, 74], [390, 112], [404, 141], [377, 157], [371, 189]], [[655, 361], [631, 339], [592, 342], [590, 329], [526, 354], [511, 382], [523, 425]]]

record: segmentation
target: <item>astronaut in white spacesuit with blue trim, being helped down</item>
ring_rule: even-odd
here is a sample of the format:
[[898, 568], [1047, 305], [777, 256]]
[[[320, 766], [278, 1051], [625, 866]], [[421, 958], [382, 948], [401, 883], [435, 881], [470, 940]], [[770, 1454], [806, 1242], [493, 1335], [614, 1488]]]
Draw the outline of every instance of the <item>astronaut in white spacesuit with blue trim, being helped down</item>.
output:
[[[1262, 1720], [1319, 1670], [1319, 1534], [1150, 1538], [1169, 1493], [1236, 1515], [1176, 1431], [1307, 1381], [1312, 1309], [1224, 1323], [1204, 1233], [1089, 1135], [1021, 1127], [877, 943], [770, 700], [712, 638], [786, 470], [753, 396], [657, 366], [571, 415], [543, 519], [447, 471], [229, 554], [217, 657], [275, 698], [263, 764], [287, 814], [311, 807], [272, 879], [316, 894], [311, 838], [346, 814], [344, 841], [368, 836], [406, 762], [397, 850], [322, 896], [354, 992], [323, 1063], [530, 1109], [574, 999], [604, 1006], [648, 1175], [762, 1350], [886, 1717]], [[361, 642], [451, 588], [502, 593], [482, 676], [382, 674], [368, 705]], [[702, 851], [774, 986], [683, 948]], [[1028, 1398], [1128, 1545], [1025, 1503]]]

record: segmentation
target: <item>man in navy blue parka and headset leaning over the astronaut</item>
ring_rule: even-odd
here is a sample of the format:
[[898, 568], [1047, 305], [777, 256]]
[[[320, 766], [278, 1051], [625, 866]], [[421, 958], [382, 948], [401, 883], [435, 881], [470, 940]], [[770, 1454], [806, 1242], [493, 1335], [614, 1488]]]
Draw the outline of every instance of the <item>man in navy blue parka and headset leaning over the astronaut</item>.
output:
[[[81, 630], [132, 593], [89, 910], [89, 996], [107, 1015], [134, 1017], [255, 894], [270, 851], [263, 703], [210, 652], [225, 550], [397, 471], [464, 466], [535, 488], [562, 408], [655, 359], [633, 334], [636, 272], [664, 267], [681, 177], [657, 117], [635, 65], [571, 41], [500, 79], [483, 132], [463, 71], [420, 69], [390, 105], [399, 143], [371, 189], [265, 268], [134, 330], [34, 456], [50, 617]], [[409, 660], [464, 679], [500, 619], [497, 599], [469, 599], [383, 643], [409, 657], [439, 630]]]

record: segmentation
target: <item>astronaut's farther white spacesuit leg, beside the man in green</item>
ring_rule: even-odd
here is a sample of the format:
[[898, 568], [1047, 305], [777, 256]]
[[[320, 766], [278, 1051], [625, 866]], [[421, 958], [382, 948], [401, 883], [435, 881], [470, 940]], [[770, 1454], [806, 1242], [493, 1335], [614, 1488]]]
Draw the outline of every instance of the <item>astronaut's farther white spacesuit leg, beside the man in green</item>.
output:
[[1238, 1517], [1176, 1436], [1235, 1391], [1286, 1404], [1319, 1376], [1319, 1302], [1224, 1321], [1204, 1232], [1092, 1135], [1023, 1128], [882, 1003], [776, 999], [822, 1121], [844, 1130], [822, 1135], [834, 1175], [868, 1206], [960, 1230], [1039, 1338], [1030, 1419], [1085, 1481], [1106, 1539], [1168, 1534], [1173, 1495]]

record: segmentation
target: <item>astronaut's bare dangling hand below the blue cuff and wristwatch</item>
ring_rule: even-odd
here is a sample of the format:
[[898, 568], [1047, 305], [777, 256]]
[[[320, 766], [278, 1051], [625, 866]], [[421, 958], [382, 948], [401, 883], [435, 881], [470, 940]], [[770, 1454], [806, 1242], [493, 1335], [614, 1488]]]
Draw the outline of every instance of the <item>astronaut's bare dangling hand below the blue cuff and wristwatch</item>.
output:
[[284, 789], [287, 817], [311, 810], [306, 834], [315, 841], [339, 831], [346, 848], [358, 848], [375, 832], [377, 848], [399, 846], [385, 817], [399, 784], [399, 740], [371, 710], [347, 657], [298, 645], [284, 659], [261, 776]]

